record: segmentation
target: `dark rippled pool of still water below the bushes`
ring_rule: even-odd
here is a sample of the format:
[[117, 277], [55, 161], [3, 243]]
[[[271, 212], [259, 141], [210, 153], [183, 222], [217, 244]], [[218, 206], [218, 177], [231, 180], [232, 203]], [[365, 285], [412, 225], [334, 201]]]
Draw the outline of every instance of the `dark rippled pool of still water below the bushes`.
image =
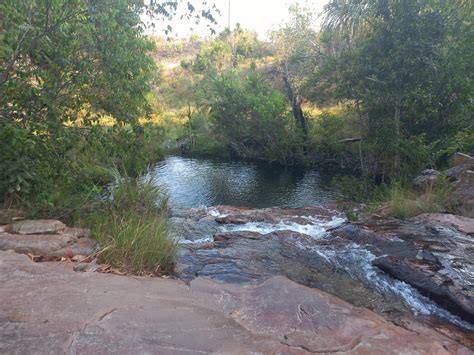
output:
[[314, 169], [170, 156], [150, 174], [177, 208], [302, 207], [325, 205], [338, 196], [330, 178]]

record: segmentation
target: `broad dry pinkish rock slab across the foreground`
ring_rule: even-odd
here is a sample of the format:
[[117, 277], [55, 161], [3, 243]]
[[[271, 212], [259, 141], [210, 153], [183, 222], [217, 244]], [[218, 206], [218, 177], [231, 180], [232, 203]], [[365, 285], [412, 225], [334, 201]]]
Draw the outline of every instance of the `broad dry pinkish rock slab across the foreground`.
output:
[[284, 277], [188, 286], [0, 252], [0, 285], [0, 353], [470, 353]]

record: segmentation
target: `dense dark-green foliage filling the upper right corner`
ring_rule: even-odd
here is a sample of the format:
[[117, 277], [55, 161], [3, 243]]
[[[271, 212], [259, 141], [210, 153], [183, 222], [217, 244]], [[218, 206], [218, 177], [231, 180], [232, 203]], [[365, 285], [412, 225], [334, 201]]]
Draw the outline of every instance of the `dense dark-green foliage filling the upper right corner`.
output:
[[356, 103], [362, 173], [400, 180], [472, 146], [472, 11], [467, 1], [326, 6], [330, 51], [313, 81]]

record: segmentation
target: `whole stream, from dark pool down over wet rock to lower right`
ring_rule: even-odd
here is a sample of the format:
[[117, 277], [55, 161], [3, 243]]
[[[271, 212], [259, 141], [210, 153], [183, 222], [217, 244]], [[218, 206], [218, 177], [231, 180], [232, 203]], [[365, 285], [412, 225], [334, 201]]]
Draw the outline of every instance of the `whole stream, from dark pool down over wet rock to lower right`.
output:
[[284, 275], [395, 322], [435, 319], [474, 331], [472, 323], [373, 266], [370, 248], [333, 239], [331, 229], [346, 220], [330, 207], [341, 197], [330, 176], [314, 169], [170, 156], [148, 177], [169, 195], [182, 245], [178, 278], [246, 284]]

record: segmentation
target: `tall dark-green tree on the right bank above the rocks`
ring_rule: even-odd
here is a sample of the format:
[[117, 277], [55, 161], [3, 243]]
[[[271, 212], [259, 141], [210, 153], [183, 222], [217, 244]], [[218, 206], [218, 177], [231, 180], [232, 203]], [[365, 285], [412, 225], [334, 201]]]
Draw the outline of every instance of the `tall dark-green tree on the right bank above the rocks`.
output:
[[[451, 36], [467, 38], [467, 31], [453, 31], [451, 26], [463, 13], [466, 19], [469, 7], [472, 11], [472, 5], [463, 1], [449, 6], [408, 0], [332, 1], [326, 7], [326, 29], [345, 43], [326, 74], [337, 83], [339, 97], [352, 100], [364, 118], [372, 171], [400, 179], [416, 156], [410, 151], [414, 142], [416, 151], [422, 151], [420, 144], [442, 137], [446, 130], [433, 128], [443, 121], [448, 132], [458, 124], [465, 126], [457, 119], [455, 123], [458, 114], [440, 103], [452, 97], [451, 85], [460, 84], [450, 79], [456, 71], [447, 64], [454, 57], [446, 49], [452, 47]], [[465, 83], [472, 82], [469, 76]], [[467, 86], [459, 93], [464, 108], [472, 90]], [[449, 116], [451, 123], [446, 122]]]

